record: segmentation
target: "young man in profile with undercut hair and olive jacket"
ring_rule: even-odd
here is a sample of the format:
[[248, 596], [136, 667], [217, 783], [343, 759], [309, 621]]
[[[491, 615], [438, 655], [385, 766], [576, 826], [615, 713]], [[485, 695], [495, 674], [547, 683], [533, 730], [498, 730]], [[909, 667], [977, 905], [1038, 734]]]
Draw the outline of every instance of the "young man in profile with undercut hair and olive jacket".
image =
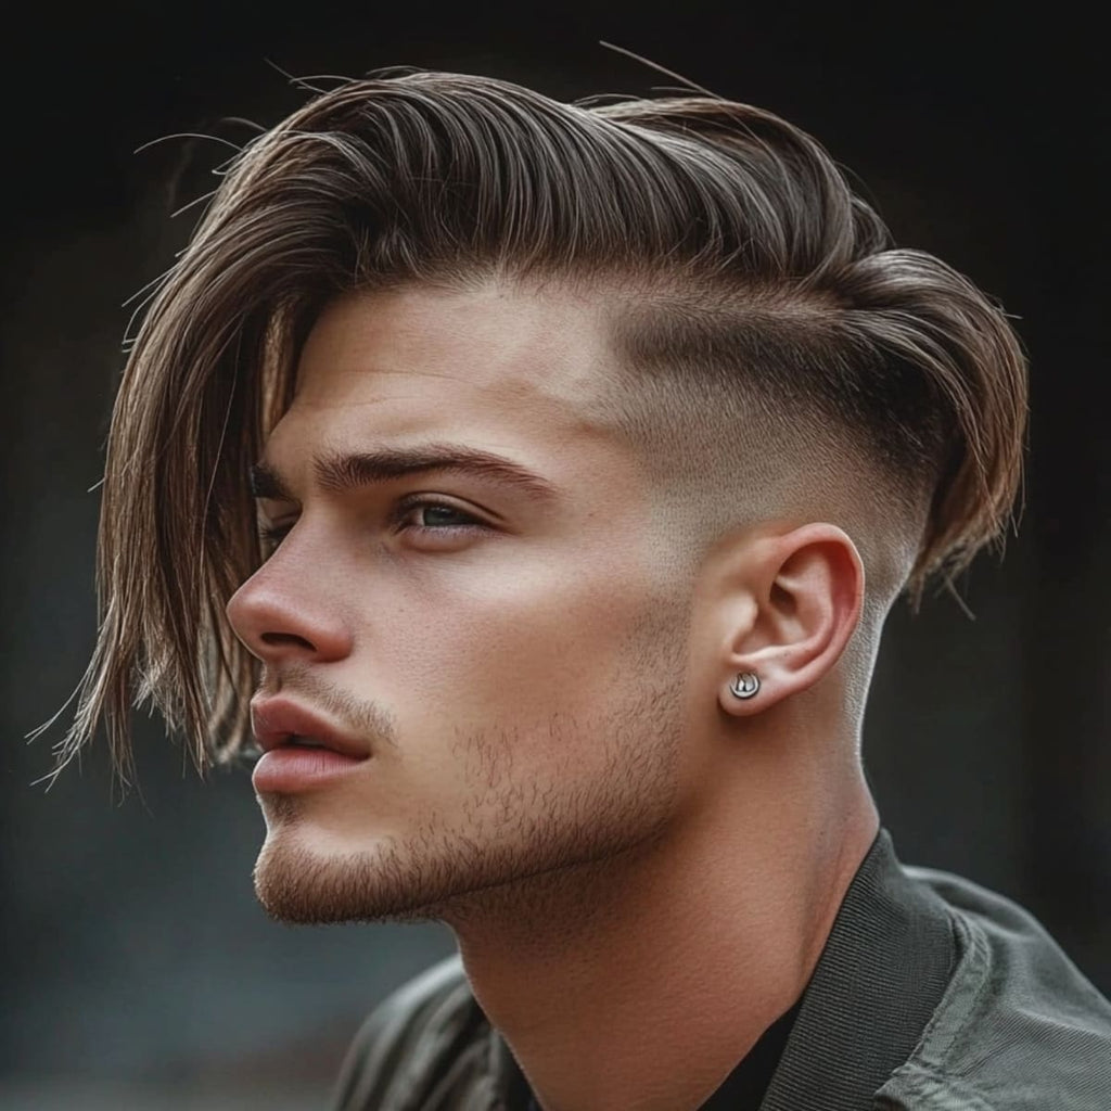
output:
[[453, 930], [346, 1111], [1111, 1107], [1111, 1007], [860, 762], [1024, 410], [1001, 311], [768, 112], [343, 86], [147, 312], [66, 753], [249, 714], [267, 909]]

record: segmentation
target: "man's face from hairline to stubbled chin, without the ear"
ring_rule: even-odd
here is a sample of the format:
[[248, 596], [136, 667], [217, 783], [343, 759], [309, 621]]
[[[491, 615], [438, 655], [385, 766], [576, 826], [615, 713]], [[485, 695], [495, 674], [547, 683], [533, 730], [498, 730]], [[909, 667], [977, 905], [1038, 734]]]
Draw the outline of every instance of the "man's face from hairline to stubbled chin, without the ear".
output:
[[[277, 917], [450, 917], [674, 813], [688, 599], [635, 459], [590, 420], [609, 358], [550, 292], [359, 293], [318, 320], [261, 461], [289, 531], [228, 612], [264, 665], [257, 728], [300, 708], [369, 759], [257, 780]], [[549, 492], [343, 464], [429, 444]]]

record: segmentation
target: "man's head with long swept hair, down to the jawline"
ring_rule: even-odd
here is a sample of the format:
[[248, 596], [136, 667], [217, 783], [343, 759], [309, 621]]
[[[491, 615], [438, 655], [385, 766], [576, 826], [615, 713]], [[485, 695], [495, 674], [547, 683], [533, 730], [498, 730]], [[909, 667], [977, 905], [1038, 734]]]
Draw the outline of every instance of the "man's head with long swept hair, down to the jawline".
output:
[[348, 84], [237, 158], [137, 338], [71, 750], [138, 693], [228, 754], [254, 689], [363, 745], [263, 793], [290, 918], [634, 849], [755, 737], [854, 761], [883, 617], [999, 534], [1023, 412], [999, 310], [765, 112]]

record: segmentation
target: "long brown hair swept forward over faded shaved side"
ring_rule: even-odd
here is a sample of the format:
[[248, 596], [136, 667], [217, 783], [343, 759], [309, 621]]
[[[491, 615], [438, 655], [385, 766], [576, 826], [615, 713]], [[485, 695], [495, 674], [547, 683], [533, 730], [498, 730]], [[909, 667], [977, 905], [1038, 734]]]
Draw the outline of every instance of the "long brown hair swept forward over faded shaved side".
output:
[[965, 278], [892, 249], [810, 137], [712, 97], [588, 107], [382, 71], [232, 160], [149, 306], [109, 437], [100, 634], [59, 768], [103, 722], [126, 780], [148, 699], [199, 765], [236, 751], [256, 671], [223, 609], [260, 559], [247, 472], [309, 328], [353, 288], [482, 274], [633, 293], [653, 311], [614, 334], [644, 376], [703, 374], [837, 422], [923, 507], [912, 598], [1004, 531], [1018, 341]]

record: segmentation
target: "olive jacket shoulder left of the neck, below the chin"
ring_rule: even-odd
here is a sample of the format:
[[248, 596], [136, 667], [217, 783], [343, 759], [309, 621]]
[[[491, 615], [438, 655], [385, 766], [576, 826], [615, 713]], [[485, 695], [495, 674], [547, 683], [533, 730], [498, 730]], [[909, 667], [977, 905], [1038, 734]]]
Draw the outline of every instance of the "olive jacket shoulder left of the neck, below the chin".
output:
[[488, 1033], [462, 961], [449, 957], [371, 1012], [343, 1060], [332, 1105], [336, 1111], [450, 1107], [443, 1100], [457, 1098], [467, 1083], [460, 1060], [474, 1059]]

